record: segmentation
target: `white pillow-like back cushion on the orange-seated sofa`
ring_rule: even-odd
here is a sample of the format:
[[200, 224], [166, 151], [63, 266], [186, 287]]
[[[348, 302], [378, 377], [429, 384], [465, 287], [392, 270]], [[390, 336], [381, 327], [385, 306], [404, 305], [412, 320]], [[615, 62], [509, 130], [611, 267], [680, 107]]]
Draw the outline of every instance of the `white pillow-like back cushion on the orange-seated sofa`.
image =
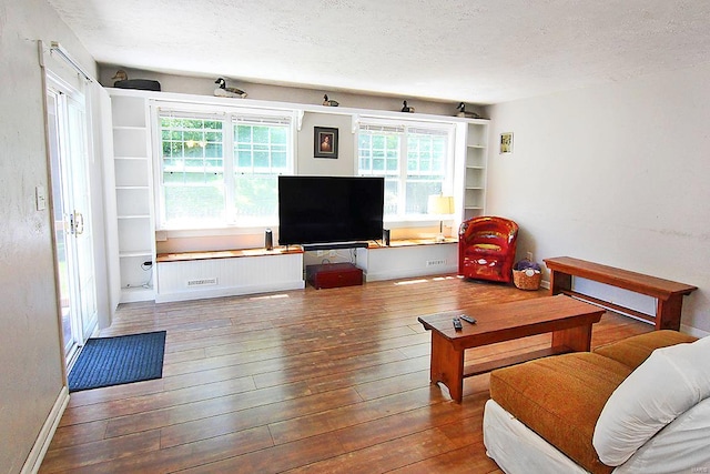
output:
[[657, 349], [607, 401], [595, 426], [599, 460], [618, 466], [659, 430], [710, 396], [710, 337]]

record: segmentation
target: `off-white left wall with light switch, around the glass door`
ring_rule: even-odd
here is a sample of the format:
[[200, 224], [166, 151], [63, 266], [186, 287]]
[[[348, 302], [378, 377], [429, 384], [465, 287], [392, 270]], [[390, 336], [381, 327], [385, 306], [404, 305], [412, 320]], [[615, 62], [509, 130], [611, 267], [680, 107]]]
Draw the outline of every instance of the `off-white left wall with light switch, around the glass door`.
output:
[[[44, 0], [0, 0], [0, 472], [22, 467], [63, 386], [38, 41], [93, 60]], [[49, 192], [48, 192], [49, 194]]]

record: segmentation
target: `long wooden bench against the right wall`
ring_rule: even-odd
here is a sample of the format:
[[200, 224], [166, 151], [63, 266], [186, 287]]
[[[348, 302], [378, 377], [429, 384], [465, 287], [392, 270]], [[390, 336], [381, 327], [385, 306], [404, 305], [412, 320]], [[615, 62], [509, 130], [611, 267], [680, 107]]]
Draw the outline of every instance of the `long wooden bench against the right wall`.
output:
[[[582, 300], [649, 321], [656, 325], [657, 330], [678, 331], [680, 329], [683, 296], [698, 290], [697, 286], [684, 283], [601, 265], [571, 256], [545, 259], [545, 264], [550, 271], [550, 295], [564, 293], [578, 296]], [[578, 293], [572, 290], [572, 276], [594, 280], [599, 283], [652, 296], [656, 299], [656, 316]]]

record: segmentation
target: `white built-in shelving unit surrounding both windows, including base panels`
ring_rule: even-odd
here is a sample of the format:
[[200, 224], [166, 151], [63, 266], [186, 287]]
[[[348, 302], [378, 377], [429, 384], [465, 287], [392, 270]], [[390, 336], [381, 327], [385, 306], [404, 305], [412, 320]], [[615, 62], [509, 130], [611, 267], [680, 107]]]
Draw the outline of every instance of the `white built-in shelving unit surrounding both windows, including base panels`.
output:
[[[161, 260], [156, 255], [152, 115], [149, 104], [153, 100], [162, 100], [221, 108], [234, 103], [233, 101], [207, 95], [124, 89], [110, 89], [109, 94], [113, 120], [114, 182], [111, 185], [115, 188], [116, 196], [120, 302], [176, 301], [303, 288], [303, 255], [298, 254], [265, 255], [263, 251], [253, 253], [250, 249], [240, 250], [237, 245], [234, 250], [243, 254], [229, 259], [206, 258], [194, 262], [172, 262]], [[296, 111], [300, 132], [304, 112], [349, 115], [353, 123], [362, 115], [395, 120], [403, 117], [400, 112], [392, 111], [323, 108], [320, 104], [248, 99], [240, 100], [239, 104], [254, 109]], [[427, 114], [416, 114], [416, 119], [447, 122], [456, 128], [456, 172], [453, 189], [456, 212], [450, 233], [453, 241], [437, 245], [393, 245], [386, 249], [363, 250], [358, 254], [358, 264], [366, 269], [368, 280], [454, 272], [457, 264], [455, 239], [458, 224], [465, 219], [483, 215], [486, 211], [489, 121]], [[263, 266], [265, 263], [268, 265]], [[253, 265], [257, 265], [262, 272], [257, 272]], [[274, 280], [275, 274], [278, 274], [281, 280]]]

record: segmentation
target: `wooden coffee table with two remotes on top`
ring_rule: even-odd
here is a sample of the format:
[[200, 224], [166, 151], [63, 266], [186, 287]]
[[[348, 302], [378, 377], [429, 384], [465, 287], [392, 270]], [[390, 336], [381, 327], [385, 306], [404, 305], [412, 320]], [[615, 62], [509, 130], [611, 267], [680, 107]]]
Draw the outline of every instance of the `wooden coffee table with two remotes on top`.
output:
[[[591, 325], [605, 310], [566, 295], [536, 297], [491, 305], [470, 305], [456, 311], [419, 316], [432, 331], [430, 380], [448, 387], [452, 399], [462, 402], [464, 377], [518, 364], [547, 355], [589, 351]], [[453, 317], [466, 314], [476, 324], [462, 321], [455, 331]], [[535, 334], [552, 333], [550, 347], [498, 361], [464, 366], [464, 351]]]

